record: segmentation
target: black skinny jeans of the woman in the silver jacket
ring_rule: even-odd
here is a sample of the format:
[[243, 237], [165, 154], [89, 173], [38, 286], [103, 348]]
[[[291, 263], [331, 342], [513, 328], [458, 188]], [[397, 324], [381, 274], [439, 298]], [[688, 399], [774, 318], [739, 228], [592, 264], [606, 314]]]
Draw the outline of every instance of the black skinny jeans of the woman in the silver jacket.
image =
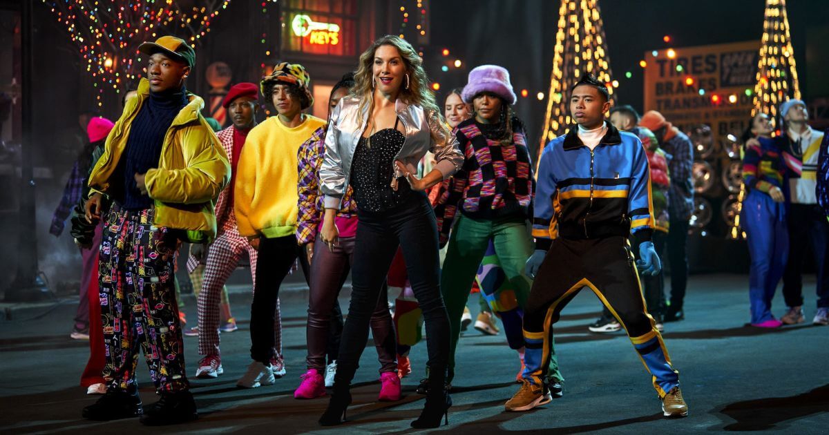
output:
[[438, 227], [429, 200], [421, 192], [412, 192], [394, 209], [380, 213], [358, 210], [357, 216], [360, 223], [351, 265], [351, 303], [342, 331], [334, 389], [348, 389], [354, 378], [368, 341], [371, 315], [398, 246], [403, 251], [414, 297], [423, 310], [429, 384], [443, 385], [449, 354], [449, 318], [440, 294]]

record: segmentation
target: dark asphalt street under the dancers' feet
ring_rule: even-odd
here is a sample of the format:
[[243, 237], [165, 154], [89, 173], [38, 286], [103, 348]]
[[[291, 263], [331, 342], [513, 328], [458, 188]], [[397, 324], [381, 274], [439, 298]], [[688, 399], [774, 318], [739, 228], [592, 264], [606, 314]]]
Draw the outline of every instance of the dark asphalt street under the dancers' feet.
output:
[[[768, 431], [829, 433], [829, 327], [812, 326], [814, 278], [806, 280], [807, 323], [777, 331], [745, 326], [749, 316], [748, 277], [691, 277], [686, 320], [667, 324], [671, 360], [680, 370], [688, 418], [662, 418], [660, 403], [633, 346], [623, 332], [598, 335], [587, 326], [599, 316], [599, 300], [583, 291], [565, 308], [555, 326], [565, 375], [565, 395], [526, 413], [507, 413], [503, 405], [518, 389], [516, 352], [503, 333], [482, 336], [471, 327], [460, 341], [453, 382], [453, 433], [703, 433]], [[394, 296], [394, 295], [393, 295]], [[296, 400], [293, 389], [305, 371], [307, 292], [293, 284], [283, 292], [284, 355], [288, 373], [276, 384], [238, 389], [235, 381], [250, 362], [250, 291], [235, 286], [231, 303], [240, 330], [222, 334], [225, 374], [191, 379], [200, 418], [152, 433], [395, 433], [410, 432], [423, 396], [414, 389], [423, 374], [425, 343], [411, 352], [414, 373], [403, 381], [404, 398], [376, 402], [379, 392], [376, 352], [367, 343], [355, 387], [349, 422], [320, 428], [317, 419], [327, 399]], [[478, 311], [477, 295], [468, 307]], [[196, 320], [191, 295], [185, 312]], [[76, 302], [75, 302], [76, 303]], [[343, 310], [347, 297], [341, 298]], [[774, 300], [783, 314], [783, 297]], [[75, 307], [47, 307], [28, 318], [0, 321], [0, 433], [151, 433], [134, 419], [85, 421], [80, 410], [95, 401], [79, 386], [89, 355], [88, 342], [69, 338]], [[185, 338], [187, 374], [199, 356], [196, 338]], [[143, 358], [138, 379], [144, 404], [156, 399]]]

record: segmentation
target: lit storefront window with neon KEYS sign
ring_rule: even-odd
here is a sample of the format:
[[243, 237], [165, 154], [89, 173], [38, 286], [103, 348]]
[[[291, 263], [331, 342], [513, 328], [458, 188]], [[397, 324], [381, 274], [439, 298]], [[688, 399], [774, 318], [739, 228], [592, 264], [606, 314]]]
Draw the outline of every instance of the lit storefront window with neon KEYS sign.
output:
[[355, 56], [357, 0], [286, 0], [284, 51]]

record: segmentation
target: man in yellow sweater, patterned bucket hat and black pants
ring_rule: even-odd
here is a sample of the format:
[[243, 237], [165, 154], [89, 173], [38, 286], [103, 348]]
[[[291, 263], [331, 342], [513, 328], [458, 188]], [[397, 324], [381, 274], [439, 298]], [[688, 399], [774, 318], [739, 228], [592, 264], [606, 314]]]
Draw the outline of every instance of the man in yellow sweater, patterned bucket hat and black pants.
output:
[[279, 286], [294, 261], [304, 257], [295, 235], [297, 152], [317, 128], [325, 125], [322, 119], [303, 114], [313, 105], [309, 81], [303, 65], [287, 62], [274, 66], [274, 72], [262, 79], [262, 94], [274, 104], [278, 115], [250, 130], [239, 159], [234, 191], [236, 221], [239, 234], [250, 239], [259, 251], [250, 308], [253, 362], [237, 382], [240, 387], [256, 388], [275, 382], [270, 361], [274, 357]]

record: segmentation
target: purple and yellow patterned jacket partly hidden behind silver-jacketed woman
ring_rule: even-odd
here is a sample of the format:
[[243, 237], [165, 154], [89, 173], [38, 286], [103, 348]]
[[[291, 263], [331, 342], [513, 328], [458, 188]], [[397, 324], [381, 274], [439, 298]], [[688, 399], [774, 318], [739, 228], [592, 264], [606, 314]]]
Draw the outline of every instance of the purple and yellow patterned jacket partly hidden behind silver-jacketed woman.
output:
[[[322, 214], [325, 213], [324, 195], [320, 190], [319, 168], [325, 156], [325, 127], [317, 128], [311, 138], [299, 146], [297, 154], [299, 184], [297, 186], [299, 215], [297, 217], [297, 243], [308, 244], [317, 239]], [[337, 212], [340, 217], [356, 216], [357, 203], [354, 191], [346, 187], [342, 205]]]

